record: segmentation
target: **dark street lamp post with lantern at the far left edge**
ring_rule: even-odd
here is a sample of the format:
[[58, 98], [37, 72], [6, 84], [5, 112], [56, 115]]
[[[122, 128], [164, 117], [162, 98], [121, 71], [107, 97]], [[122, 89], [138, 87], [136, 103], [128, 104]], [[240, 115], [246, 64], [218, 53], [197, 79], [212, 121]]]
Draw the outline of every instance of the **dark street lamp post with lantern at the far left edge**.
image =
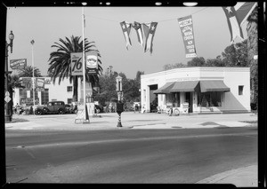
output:
[[12, 47], [13, 47], [13, 39], [14, 39], [14, 35], [11, 31], [10, 35], [9, 35], [9, 41], [10, 43], [7, 43], [5, 41], [5, 70], [4, 70], [4, 75], [5, 75], [5, 114], [4, 114], [4, 120], [5, 122], [11, 122], [12, 121], [12, 113], [11, 113], [11, 109], [9, 106], [10, 103], [10, 93], [8, 91], [9, 89], [9, 85], [8, 85], [8, 75], [11, 74], [11, 71], [8, 71], [8, 47], [10, 46], [11, 49], [11, 53], [12, 53]]

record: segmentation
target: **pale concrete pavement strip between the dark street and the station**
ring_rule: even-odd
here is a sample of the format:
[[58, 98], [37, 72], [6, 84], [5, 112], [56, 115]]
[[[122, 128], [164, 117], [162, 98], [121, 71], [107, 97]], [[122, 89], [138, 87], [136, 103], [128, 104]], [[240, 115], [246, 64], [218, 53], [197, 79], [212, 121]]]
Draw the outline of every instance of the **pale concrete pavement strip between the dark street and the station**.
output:
[[192, 114], [167, 116], [166, 114], [121, 114], [122, 128], [117, 128], [117, 113], [89, 116], [89, 123], [75, 123], [76, 114], [13, 115], [13, 120], [25, 119], [28, 122], [10, 122], [7, 130], [109, 130], [109, 129], [193, 129], [228, 128], [256, 126], [255, 114]]

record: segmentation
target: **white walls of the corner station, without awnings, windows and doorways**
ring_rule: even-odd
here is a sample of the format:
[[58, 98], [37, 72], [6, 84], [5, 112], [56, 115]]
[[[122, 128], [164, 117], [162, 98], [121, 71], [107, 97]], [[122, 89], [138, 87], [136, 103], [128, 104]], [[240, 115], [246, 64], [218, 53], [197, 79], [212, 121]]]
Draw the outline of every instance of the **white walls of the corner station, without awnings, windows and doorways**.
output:
[[[214, 107], [219, 112], [250, 111], [250, 69], [249, 67], [185, 67], [166, 70], [141, 76], [142, 112], [150, 112], [149, 86], [158, 84], [158, 88], [168, 82], [195, 80], [223, 80], [231, 89], [223, 92], [222, 106]], [[244, 86], [243, 95], [239, 95], [239, 85]], [[203, 107], [198, 106], [198, 94], [193, 92], [193, 111], [200, 113]], [[180, 93], [180, 103], [185, 101], [185, 93]], [[166, 95], [158, 94], [158, 106], [166, 108]], [[200, 109], [201, 108], [201, 109]]]

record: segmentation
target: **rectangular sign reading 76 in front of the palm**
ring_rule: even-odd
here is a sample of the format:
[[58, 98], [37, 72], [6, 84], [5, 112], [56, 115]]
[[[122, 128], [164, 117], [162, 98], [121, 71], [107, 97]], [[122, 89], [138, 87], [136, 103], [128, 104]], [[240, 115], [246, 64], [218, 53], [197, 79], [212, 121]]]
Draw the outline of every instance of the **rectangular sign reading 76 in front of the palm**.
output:
[[70, 53], [71, 58], [71, 75], [83, 75], [83, 53]]

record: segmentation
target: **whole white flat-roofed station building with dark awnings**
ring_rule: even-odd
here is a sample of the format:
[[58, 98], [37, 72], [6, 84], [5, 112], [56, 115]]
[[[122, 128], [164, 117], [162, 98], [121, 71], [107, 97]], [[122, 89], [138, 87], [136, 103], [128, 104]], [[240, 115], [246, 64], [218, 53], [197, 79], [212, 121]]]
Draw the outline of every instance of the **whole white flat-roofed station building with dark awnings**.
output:
[[249, 67], [185, 67], [141, 75], [142, 112], [250, 112]]

